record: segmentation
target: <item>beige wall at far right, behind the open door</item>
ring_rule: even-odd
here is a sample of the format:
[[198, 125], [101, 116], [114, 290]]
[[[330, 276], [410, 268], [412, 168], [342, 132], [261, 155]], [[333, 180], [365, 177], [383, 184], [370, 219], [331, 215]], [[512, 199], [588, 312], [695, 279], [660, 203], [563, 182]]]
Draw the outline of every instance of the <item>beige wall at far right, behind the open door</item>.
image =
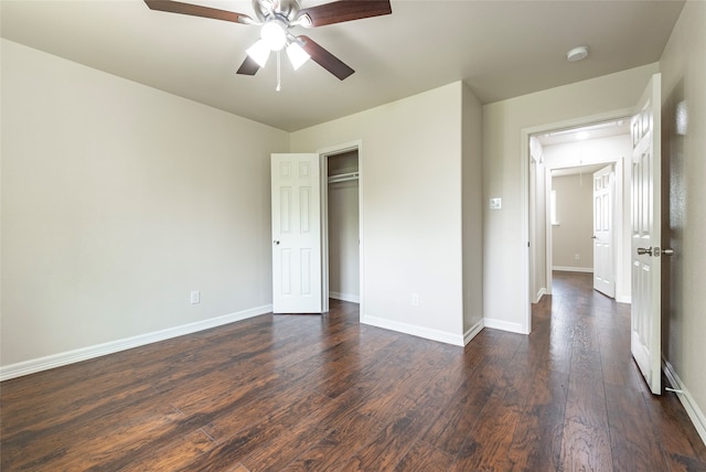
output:
[[[665, 184], [671, 182], [663, 245], [676, 253], [664, 259], [662, 353], [682, 380], [682, 398], [706, 441], [706, 2], [686, 2], [660, 67], [663, 169]], [[677, 117], [681, 122], [687, 117], [687, 126], [677, 126]]]

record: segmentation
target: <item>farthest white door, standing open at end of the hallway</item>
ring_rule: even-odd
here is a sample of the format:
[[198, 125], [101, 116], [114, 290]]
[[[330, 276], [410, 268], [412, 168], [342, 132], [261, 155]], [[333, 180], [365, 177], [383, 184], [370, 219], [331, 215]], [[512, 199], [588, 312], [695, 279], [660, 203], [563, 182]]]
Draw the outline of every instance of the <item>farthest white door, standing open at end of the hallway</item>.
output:
[[616, 298], [613, 202], [616, 173], [608, 165], [593, 173], [593, 288]]

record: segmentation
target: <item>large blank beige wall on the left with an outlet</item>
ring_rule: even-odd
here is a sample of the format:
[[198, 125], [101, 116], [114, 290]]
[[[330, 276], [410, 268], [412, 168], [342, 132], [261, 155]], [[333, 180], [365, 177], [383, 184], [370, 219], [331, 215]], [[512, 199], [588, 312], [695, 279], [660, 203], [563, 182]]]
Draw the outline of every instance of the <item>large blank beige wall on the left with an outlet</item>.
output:
[[3, 366], [268, 311], [286, 132], [4, 40], [1, 85]]

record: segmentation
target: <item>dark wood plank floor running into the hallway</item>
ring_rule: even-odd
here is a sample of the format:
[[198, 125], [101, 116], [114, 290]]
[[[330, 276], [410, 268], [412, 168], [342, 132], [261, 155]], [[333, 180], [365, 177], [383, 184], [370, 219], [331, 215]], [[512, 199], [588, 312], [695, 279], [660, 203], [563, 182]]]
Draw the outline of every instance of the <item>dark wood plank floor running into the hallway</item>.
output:
[[7, 380], [1, 469], [706, 471], [674, 394], [629, 352], [629, 307], [557, 272], [530, 336], [466, 347], [264, 315]]

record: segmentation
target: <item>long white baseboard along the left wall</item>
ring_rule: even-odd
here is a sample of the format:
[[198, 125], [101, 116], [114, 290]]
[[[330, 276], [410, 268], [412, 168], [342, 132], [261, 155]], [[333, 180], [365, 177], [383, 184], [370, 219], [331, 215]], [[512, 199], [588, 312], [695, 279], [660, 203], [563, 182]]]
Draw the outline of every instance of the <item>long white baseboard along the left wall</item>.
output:
[[96, 344], [94, 346], [81, 347], [81, 348], [67, 351], [64, 353], [52, 354], [44, 357], [39, 357], [30, 361], [19, 362], [15, 364], [0, 366], [0, 382], [8, 380], [10, 378], [21, 377], [23, 375], [34, 374], [42, 371], [49, 371], [50, 368], [61, 367], [64, 365], [74, 364], [82, 361], [87, 361], [89, 358], [100, 357], [100, 356], [117, 353], [120, 351], [131, 350], [133, 347], [139, 347], [146, 344], [165, 341], [172, 337], [183, 336], [184, 334], [191, 334], [191, 333], [195, 333], [203, 330], [210, 330], [211, 328], [222, 326], [224, 324], [233, 323], [235, 321], [259, 317], [260, 314], [266, 314], [271, 312], [272, 312], [272, 305], [267, 304], [263, 307], [253, 308], [249, 310], [239, 311], [237, 313], [229, 313], [229, 314], [224, 314], [222, 317], [211, 318], [208, 320], [197, 321], [195, 323], [189, 323], [189, 324], [183, 324], [181, 326], [168, 328], [165, 330], [154, 331], [146, 334], [139, 334], [132, 337], [110, 341], [108, 343]]

